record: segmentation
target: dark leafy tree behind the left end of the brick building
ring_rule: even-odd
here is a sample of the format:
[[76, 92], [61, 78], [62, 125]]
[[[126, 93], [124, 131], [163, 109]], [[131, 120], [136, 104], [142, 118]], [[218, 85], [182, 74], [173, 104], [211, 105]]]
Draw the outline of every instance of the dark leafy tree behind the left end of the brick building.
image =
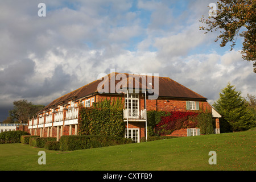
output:
[[32, 118], [44, 108], [44, 105], [34, 105], [27, 100], [14, 101], [13, 105], [14, 109], [9, 110], [9, 117], [11, 121], [19, 123], [27, 123], [28, 118]]

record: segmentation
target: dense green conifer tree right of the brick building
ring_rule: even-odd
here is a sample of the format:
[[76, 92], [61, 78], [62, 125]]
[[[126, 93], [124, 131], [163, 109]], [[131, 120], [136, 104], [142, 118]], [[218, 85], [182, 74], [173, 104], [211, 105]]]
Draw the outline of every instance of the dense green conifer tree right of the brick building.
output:
[[221, 91], [220, 98], [214, 102], [213, 107], [229, 123], [232, 131], [250, 129], [254, 123], [254, 113], [247, 107], [241, 92], [237, 92], [230, 83]]

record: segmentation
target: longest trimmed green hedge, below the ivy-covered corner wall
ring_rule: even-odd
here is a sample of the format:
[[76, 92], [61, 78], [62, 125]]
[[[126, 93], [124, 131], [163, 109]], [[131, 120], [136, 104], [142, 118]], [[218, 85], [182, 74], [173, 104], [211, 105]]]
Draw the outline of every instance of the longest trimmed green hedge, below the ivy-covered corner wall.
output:
[[61, 136], [60, 138], [60, 150], [81, 150], [86, 148], [106, 147], [127, 143], [133, 143], [133, 140], [123, 137], [100, 135], [67, 135]]

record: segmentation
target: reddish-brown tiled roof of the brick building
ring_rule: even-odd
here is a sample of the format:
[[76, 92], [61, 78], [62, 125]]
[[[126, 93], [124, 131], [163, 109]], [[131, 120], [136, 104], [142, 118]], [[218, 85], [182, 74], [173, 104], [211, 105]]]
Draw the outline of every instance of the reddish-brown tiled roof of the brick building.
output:
[[[118, 82], [120, 82], [120, 80], [115, 80], [115, 77], [117, 76], [117, 74], [119, 73], [110, 73], [109, 75], [104, 77], [104, 82], [103, 82], [103, 79], [95, 80], [85, 86], [82, 86], [79, 89], [76, 89], [68, 94], [65, 94], [64, 96], [61, 96], [56, 100], [52, 101], [50, 104], [44, 107], [44, 109], [39, 111], [39, 113], [42, 113], [42, 111], [48, 110], [58, 105], [67, 104], [67, 102], [70, 100], [79, 100], [80, 98], [90, 96], [91, 94], [98, 94], [98, 92], [100, 92], [100, 90], [97, 89], [98, 85], [104, 84], [104, 83], [106, 85], [107, 81], [109, 82], [109, 93], [110, 93], [110, 85], [112, 84], [111, 80], [112, 79], [114, 80], [115, 86], [118, 84]], [[128, 73], [121, 73], [121, 74], [123, 74], [123, 76], [126, 77], [126, 79], [124, 80], [126, 81], [126, 86], [124, 85], [123, 88], [129, 88], [129, 82], [131, 82], [131, 79], [127, 81], [127, 78], [129, 78], [129, 74]], [[137, 80], [136, 78], [139, 76], [140, 75], [134, 75], [133, 88], [137, 87], [135, 82]], [[147, 83], [148, 77], [149, 76], [146, 76], [146, 83]], [[168, 77], [158, 77], [158, 78], [159, 78], [159, 97], [193, 98], [193, 99], [199, 99], [199, 100], [207, 100], [207, 98], [201, 96], [196, 92], [193, 92], [191, 89], [186, 88], [185, 86], [179, 84], [178, 82], [172, 80], [171, 78], [168, 78]], [[155, 76], [152, 76], [150, 81], [152, 82], [152, 89], [154, 89]], [[139, 85], [139, 88], [137, 89], [142, 89], [143, 86], [144, 88], [148, 89], [147, 85], [144, 85], [141, 80], [137, 82], [137, 84]]]

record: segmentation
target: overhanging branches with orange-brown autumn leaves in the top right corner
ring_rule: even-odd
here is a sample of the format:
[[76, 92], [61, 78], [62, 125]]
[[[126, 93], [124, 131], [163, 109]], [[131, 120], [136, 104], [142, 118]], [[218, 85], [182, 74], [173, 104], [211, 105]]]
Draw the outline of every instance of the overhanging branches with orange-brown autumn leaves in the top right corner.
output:
[[[220, 29], [220, 35], [215, 42], [221, 40], [221, 47], [231, 42], [231, 49], [236, 45], [237, 36], [243, 38], [242, 58], [254, 61], [253, 67], [256, 73], [256, 1], [255, 0], [220, 0], [217, 2], [216, 16], [210, 16], [201, 20], [209, 28], [200, 27], [200, 30], [208, 32]], [[243, 30], [241, 33], [240, 30]]]

